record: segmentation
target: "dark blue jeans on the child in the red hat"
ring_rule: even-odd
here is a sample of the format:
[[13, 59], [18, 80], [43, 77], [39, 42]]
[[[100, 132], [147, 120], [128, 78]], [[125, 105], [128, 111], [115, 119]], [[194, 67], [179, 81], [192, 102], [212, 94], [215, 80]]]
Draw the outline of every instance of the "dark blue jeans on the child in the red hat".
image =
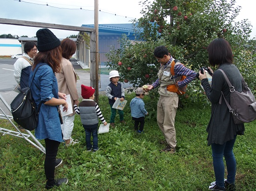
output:
[[[84, 127], [85, 141], [87, 149], [98, 149], [98, 126], [97, 127]], [[93, 137], [93, 145], [91, 144], [91, 136]]]

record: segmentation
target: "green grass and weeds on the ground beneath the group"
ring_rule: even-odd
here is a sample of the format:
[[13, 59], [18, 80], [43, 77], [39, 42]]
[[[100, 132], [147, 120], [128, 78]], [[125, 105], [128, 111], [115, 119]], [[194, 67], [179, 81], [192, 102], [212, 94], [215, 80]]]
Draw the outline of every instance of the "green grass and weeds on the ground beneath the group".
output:
[[[134, 94], [126, 95], [128, 105]], [[145, 96], [144, 102], [150, 102]], [[152, 103], [156, 104], [156, 103]], [[86, 151], [85, 132], [80, 116], [75, 116], [72, 137], [80, 140], [73, 147], [60, 145], [58, 158], [63, 164], [55, 177], [69, 182], [54, 191], [207, 191], [214, 181], [210, 146], [205, 131], [210, 107], [202, 104], [177, 110], [175, 154], [160, 153], [163, 135], [155, 119], [146, 119], [144, 134], [133, 131], [128, 105], [124, 109], [125, 125], [116, 117], [116, 127], [99, 134], [100, 150]], [[109, 122], [108, 98], [100, 96], [99, 106]], [[0, 127], [7, 127], [5, 120]], [[237, 191], [256, 188], [256, 121], [245, 124], [245, 135], [237, 136], [234, 153], [237, 161]], [[8, 127], [11, 128], [11, 127]], [[44, 141], [40, 141], [44, 145]], [[0, 190], [43, 191], [44, 154], [23, 139], [0, 137]]]

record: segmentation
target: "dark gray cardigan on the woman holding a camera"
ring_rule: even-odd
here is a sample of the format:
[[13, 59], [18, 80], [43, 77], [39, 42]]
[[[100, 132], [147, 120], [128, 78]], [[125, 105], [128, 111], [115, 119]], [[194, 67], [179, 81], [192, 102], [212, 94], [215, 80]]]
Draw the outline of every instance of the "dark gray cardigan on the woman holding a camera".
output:
[[[236, 91], [242, 92], [242, 81], [239, 77], [240, 71], [234, 64], [221, 64], [219, 69], [222, 69], [228, 76], [230, 83], [235, 87]], [[208, 132], [208, 145], [211, 143], [223, 144], [228, 140], [234, 139], [236, 134], [244, 133], [243, 124], [235, 124], [232, 114], [222, 99], [219, 104], [221, 93], [223, 92], [226, 100], [230, 102], [229, 86], [220, 70], [216, 70], [212, 76], [212, 85], [209, 86], [207, 79], [201, 81], [206, 96], [212, 103], [211, 117], [206, 131]]]

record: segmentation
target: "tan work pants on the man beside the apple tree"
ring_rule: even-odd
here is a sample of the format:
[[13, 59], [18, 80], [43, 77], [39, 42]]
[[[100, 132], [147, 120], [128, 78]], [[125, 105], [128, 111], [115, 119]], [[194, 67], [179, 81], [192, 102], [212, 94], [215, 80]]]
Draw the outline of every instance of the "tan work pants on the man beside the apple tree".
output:
[[178, 108], [179, 97], [176, 93], [173, 96], [161, 96], [157, 103], [157, 123], [165, 140], [171, 148], [176, 147], [175, 115]]

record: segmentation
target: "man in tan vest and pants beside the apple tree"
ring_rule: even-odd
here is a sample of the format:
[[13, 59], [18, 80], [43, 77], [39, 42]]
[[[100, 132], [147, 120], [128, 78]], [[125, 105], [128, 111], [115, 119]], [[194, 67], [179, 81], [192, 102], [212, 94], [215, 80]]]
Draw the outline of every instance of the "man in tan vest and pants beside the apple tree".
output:
[[[170, 67], [174, 58], [169, 55], [168, 49], [165, 46], [156, 47], [154, 56], [157, 59], [157, 62], [161, 64], [158, 71], [158, 79], [152, 83], [152, 85], [148, 85], [145, 90], [149, 91], [160, 86], [158, 89], [160, 97], [157, 103], [157, 124], [165, 137], [165, 141], [160, 142], [162, 144], [167, 144], [167, 146], [160, 151], [175, 153], [176, 132], [174, 123], [179, 97], [176, 92], [171, 92], [168, 86], [176, 85], [179, 88], [182, 88], [195, 79], [196, 73], [177, 62], [174, 66], [175, 75], [172, 76]], [[182, 81], [178, 81], [179, 76], [187, 77]]]

